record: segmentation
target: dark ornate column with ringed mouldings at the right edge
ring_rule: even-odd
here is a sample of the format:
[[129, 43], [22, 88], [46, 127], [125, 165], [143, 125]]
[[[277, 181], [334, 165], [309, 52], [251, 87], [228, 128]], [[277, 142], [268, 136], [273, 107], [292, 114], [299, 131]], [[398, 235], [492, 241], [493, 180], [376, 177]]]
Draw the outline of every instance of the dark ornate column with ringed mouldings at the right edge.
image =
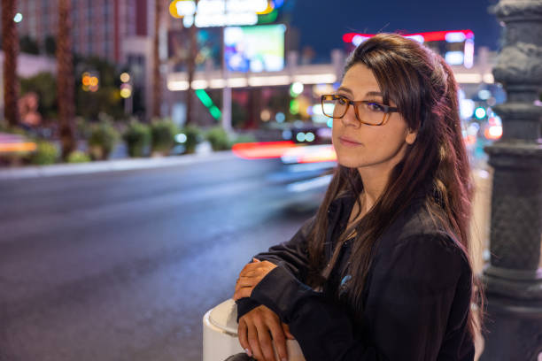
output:
[[496, 106], [499, 142], [486, 148], [494, 169], [491, 264], [484, 269], [484, 361], [537, 361], [542, 353], [542, 0], [500, 0], [505, 42], [495, 81], [507, 90]]

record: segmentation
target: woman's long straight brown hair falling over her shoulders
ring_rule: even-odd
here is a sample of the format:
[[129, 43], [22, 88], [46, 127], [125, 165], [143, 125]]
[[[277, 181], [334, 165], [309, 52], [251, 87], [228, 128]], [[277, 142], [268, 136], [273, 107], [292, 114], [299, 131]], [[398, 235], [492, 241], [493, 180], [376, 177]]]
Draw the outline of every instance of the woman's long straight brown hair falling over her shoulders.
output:
[[[352, 278], [347, 290], [353, 311], [362, 311], [362, 291], [372, 262], [375, 245], [383, 231], [420, 189], [427, 190], [426, 206], [434, 219], [452, 232], [469, 263], [468, 221], [470, 218], [472, 182], [467, 151], [461, 135], [458, 86], [452, 69], [443, 58], [418, 42], [400, 35], [380, 34], [362, 42], [347, 59], [345, 73], [355, 64], [367, 66], [375, 75], [383, 93], [384, 104], [396, 104], [416, 140], [406, 148], [405, 157], [390, 175], [383, 194], [370, 211], [337, 240], [337, 246], [326, 270], [337, 262], [341, 245], [352, 231], [352, 253], [348, 272]], [[355, 168], [338, 165], [324, 200], [316, 214], [310, 239], [309, 260], [313, 270], [311, 284], [324, 280], [326, 266], [324, 242], [328, 228], [329, 205], [338, 196], [351, 193], [361, 209], [363, 183]], [[471, 267], [472, 268], [472, 267]], [[483, 303], [482, 288], [473, 275], [471, 301]], [[468, 325], [474, 336], [476, 319], [469, 312]]]

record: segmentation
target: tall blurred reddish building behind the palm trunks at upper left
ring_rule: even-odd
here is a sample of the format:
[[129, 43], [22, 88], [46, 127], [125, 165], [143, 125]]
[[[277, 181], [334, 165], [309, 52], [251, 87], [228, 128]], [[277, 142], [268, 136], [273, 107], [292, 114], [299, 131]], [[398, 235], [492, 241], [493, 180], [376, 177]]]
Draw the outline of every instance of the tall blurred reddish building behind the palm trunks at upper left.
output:
[[[74, 53], [108, 60], [128, 69], [132, 85], [150, 109], [154, 2], [151, 0], [71, 0]], [[56, 42], [58, 0], [19, 0], [19, 38], [28, 37], [46, 53]]]

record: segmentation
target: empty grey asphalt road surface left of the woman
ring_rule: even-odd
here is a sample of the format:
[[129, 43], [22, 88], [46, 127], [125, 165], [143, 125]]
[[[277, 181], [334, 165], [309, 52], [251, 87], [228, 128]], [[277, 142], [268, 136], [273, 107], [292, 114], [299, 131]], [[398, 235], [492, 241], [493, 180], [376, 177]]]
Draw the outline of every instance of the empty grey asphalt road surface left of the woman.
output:
[[201, 361], [205, 311], [318, 203], [277, 170], [231, 157], [0, 180], [0, 359]]

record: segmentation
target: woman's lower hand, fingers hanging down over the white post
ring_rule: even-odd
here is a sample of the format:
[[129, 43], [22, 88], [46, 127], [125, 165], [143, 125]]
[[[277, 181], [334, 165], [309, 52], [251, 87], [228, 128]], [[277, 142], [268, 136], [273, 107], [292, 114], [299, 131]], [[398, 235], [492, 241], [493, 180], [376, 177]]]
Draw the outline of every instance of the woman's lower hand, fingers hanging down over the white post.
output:
[[287, 360], [286, 339], [294, 339], [288, 325], [283, 324], [276, 313], [264, 305], [252, 309], [239, 319], [237, 334], [241, 347], [259, 361], [275, 361], [273, 344], [280, 360]]

